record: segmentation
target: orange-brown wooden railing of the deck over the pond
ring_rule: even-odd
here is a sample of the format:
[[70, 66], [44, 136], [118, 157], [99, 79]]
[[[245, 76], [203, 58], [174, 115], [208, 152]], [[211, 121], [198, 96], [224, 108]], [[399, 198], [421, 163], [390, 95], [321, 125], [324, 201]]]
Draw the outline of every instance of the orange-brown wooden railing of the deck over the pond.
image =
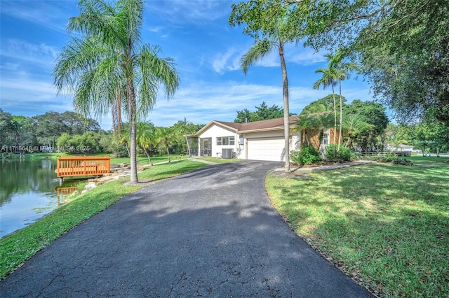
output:
[[55, 173], [58, 177], [102, 176], [111, 172], [111, 157], [67, 156], [59, 157]]

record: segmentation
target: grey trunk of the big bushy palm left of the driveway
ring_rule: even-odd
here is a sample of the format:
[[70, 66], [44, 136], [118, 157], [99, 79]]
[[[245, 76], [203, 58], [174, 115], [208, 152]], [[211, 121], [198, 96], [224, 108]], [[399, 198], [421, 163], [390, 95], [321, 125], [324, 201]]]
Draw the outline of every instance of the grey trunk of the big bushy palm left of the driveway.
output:
[[130, 182], [138, 183], [138, 159], [137, 159], [137, 115], [135, 111], [135, 93], [133, 80], [128, 78], [128, 117], [129, 117], [129, 137], [130, 137]]

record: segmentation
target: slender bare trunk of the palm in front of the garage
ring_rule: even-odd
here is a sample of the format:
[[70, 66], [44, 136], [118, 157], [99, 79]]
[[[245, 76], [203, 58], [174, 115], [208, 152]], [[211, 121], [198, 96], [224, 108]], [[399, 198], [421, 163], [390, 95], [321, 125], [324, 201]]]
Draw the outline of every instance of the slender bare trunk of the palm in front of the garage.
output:
[[283, 137], [285, 139], [285, 160], [286, 166], [284, 171], [290, 172], [290, 111], [288, 108], [288, 77], [286, 60], [283, 57], [283, 42], [279, 41], [279, 57], [281, 58], [282, 69], [282, 97], [283, 97]]

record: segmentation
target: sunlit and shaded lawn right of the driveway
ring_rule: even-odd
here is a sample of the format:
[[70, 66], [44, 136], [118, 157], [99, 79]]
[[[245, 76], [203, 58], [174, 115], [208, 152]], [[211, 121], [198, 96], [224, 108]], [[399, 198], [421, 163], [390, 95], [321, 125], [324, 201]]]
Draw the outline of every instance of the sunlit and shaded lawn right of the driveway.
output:
[[448, 297], [449, 164], [424, 159], [434, 167], [366, 164], [266, 186], [295, 232], [371, 292]]

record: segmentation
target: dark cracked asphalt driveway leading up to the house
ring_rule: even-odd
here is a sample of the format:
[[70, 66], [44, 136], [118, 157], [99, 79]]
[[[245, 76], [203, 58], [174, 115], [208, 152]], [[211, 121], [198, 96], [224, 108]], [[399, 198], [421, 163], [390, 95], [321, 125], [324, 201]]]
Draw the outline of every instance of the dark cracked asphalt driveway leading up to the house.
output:
[[130, 194], [0, 282], [6, 297], [370, 297], [293, 233], [276, 162], [208, 166]]

